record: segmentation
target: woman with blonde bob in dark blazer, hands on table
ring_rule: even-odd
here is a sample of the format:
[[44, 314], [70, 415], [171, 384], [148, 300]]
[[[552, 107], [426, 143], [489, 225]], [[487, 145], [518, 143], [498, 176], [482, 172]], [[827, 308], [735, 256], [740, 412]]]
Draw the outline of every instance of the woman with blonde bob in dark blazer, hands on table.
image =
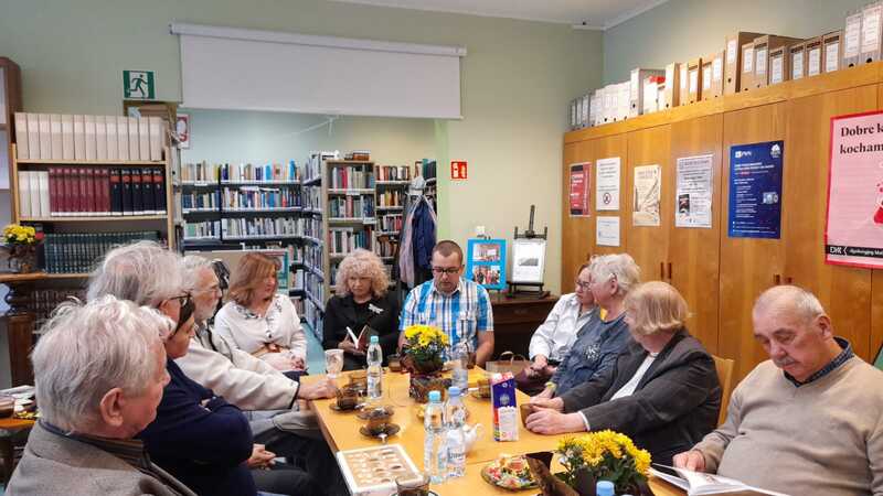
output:
[[687, 331], [687, 302], [661, 281], [624, 302], [632, 341], [606, 373], [564, 395], [534, 401], [528, 429], [541, 434], [610, 429], [671, 465], [711, 432], [721, 408], [714, 358]]

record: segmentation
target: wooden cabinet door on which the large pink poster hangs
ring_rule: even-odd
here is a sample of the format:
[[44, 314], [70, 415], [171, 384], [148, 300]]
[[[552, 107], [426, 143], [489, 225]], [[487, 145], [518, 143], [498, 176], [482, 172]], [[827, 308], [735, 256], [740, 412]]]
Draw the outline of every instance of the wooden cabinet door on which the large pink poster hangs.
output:
[[871, 270], [825, 263], [831, 117], [876, 109], [876, 85], [787, 103], [783, 223], [785, 280], [812, 291], [834, 332], [870, 359]]

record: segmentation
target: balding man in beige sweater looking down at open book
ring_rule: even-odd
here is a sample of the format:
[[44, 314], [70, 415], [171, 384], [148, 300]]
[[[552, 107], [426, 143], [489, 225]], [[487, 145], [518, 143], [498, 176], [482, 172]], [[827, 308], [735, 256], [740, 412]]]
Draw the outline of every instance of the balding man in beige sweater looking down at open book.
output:
[[726, 422], [674, 465], [790, 495], [883, 495], [883, 373], [834, 337], [804, 289], [765, 291], [752, 316], [770, 359], [733, 391]]

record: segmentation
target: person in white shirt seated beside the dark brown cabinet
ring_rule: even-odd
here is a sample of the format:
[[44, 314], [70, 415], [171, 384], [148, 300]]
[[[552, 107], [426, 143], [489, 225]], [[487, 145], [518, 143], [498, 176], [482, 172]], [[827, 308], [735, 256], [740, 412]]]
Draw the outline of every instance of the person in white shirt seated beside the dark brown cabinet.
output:
[[574, 292], [558, 299], [545, 322], [531, 337], [528, 354], [532, 364], [515, 376], [518, 388], [530, 396], [543, 391], [576, 341], [577, 331], [596, 314], [595, 298], [588, 290], [588, 266], [589, 262], [585, 262], [579, 267]]

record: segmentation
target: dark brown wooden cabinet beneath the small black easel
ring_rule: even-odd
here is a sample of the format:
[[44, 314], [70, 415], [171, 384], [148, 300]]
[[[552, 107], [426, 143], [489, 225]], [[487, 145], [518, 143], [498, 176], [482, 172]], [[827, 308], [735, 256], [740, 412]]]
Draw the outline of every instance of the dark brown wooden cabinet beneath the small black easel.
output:
[[504, 298], [491, 296], [493, 309], [493, 356], [512, 352], [528, 357], [528, 345], [536, 327], [555, 306], [558, 296]]

